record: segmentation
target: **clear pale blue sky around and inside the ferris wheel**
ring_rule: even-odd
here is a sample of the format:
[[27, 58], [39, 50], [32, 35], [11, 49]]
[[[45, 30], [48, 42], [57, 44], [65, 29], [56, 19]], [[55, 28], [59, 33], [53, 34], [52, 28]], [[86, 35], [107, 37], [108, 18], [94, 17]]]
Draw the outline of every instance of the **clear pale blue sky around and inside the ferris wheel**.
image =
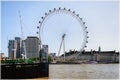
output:
[[[77, 1], [77, 2], [2, 2], [1, 3], [1, 52], [8, 54], [8, 40], [20, 37], [20, 10], [24, 39], [37, 36], [38, 21], [45, 12], [54, 8], [66, 8], [75, 11], [88, 27], [88, 44], [85, 50], [119, 50], [119, 4], [116, 1]], [[47, 19], [43, 29], [43, 43], [49, 45], [49, 52], [58, 52], [61, 36], [66, 33], [66, 51], [80, 48], [81, 28], [71, 15], [55, 14]], [[58, 31], [57, 31], [58, 30]], [[73, 31], [72, 31], [73, 30]], [[53, 35], [55, 34], [55, 35]], [[79, 38], [81, 37], [81, 38]]]

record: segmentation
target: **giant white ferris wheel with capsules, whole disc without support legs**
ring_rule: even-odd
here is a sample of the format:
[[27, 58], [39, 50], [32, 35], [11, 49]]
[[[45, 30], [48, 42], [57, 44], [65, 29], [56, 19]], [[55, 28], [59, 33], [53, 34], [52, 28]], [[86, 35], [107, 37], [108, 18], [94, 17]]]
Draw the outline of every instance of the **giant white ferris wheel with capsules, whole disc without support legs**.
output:
[[[61, 36], [65, 37], [65, 51], [77, 50], [82, 52], [88, 43], [88, 31], [85, 22], [75, 11], [66, 8], [49, 10], [39, 21], [40, 44], [49, 45], [49, 52], [57, 53]], [[41, 46], [40, 45], [40, 46]]]

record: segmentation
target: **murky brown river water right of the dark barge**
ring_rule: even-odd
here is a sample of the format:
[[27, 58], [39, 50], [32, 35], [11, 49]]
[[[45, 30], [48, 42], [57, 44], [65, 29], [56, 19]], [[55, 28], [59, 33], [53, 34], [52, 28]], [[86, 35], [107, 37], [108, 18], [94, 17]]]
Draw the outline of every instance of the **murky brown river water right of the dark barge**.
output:
[[119, 64], [50, 64], [49, 79], [119, 79]]

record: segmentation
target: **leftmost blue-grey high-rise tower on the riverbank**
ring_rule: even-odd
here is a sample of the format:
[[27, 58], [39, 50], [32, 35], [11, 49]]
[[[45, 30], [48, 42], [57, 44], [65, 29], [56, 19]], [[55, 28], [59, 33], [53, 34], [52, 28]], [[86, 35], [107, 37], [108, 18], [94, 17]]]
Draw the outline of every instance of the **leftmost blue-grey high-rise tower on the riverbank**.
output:
[[9, 43], [8, 43], [8, 57], [9, 57], [9, 59], [16, 59], [16, 50], [17, 50], [16, 40], [9, 40]]

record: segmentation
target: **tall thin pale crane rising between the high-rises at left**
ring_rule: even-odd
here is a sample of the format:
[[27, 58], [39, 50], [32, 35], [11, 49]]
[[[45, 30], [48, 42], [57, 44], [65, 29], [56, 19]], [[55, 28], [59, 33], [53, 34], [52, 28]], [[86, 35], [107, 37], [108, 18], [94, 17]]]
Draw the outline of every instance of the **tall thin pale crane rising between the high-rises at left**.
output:
[[20, 40], [21, 51], [20, 52], [21, 52], [22, 58], [27, 59], [25, 41], [23, 40], [23, 27], [22, 27], [22, 18], [21, 18], [20, 11], [19, 11], [19, 18], [20, 18], [20, 27], [21, 27], [21, 40]]

